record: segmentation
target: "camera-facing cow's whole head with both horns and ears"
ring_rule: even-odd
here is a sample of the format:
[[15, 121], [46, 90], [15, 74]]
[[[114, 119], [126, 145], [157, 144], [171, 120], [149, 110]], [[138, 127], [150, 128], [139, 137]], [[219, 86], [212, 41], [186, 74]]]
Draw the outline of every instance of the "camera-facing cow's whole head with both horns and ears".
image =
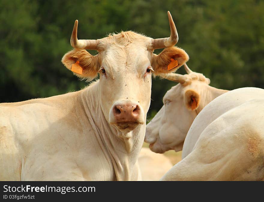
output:
[[[75, 21], [70, 40], [74, 49], [64, 55], [62, 63], [71, 69], [79, 61], [82, 74], [74, 74], [80, 78], [92, 80], [100, 74], [98, 102], [107, 121], [122, 132], [146, 123], [151, 75], [176, 71], [188, 60], [184, 50], [173, 47], [178, 33], [170, 12], [168, 16], [171, 35], [162, 39], [126, 31], [98, 40], [78, 40]], [[153, 53], [154, 49], [164, 47], [159, 55]], [[97, 50], [98, 54], [91, 55], [85, 49]], [[178, 60], [178, 66], [168, 71], [171, 58]]]

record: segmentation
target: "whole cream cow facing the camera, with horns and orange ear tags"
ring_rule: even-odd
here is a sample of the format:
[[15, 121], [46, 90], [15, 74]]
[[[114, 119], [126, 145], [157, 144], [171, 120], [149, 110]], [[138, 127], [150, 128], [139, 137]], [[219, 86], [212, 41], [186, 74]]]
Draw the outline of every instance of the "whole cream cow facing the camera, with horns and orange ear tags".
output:
[[[188, 60], [173, 47], [178, 34], [168, 16], [171, 36], [162, 39], [127, 31], [78, 40], [76, 20], [74, 49], [62, 63], [83, 79], [99, 72], [100, 80], [77, 92], [0, 104], [0, 180], [140, 179], [151, 74], [173, 72]], [[178, 66], [168, 71], [172, 58]]]

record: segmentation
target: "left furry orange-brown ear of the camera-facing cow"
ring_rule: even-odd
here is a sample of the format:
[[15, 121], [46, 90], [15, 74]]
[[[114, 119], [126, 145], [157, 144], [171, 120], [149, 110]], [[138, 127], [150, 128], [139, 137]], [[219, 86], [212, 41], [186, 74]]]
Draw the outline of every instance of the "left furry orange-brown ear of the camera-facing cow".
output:
[[76, 61], [79, 61], [79, 65], [82, 67], [82, 74], [73, 72], [74, 75], [88, 80], [92, 80], [97, 76], [100, 68], [98, 55], [93, 56], [85, 49], [73, 49], [61, 59], [61, 62], [69, 70], [71, 70], [72, 64], [76, 63]]

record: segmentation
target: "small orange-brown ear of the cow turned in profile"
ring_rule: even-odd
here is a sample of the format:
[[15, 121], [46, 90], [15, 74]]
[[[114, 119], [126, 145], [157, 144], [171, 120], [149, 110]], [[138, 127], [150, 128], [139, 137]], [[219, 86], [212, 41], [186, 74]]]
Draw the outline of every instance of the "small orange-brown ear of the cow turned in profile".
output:
[[195, 110], [199, 107], [200, 95], [196, 91], [192, 89], [185, 91], [183, 99], [187, 109]]

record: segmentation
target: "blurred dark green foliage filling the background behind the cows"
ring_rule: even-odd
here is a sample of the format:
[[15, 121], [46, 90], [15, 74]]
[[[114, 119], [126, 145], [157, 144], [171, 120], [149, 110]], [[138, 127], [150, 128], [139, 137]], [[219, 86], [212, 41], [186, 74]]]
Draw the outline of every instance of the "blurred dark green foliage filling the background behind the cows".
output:
[[[168, 37], [170, 10], [179, 33], [177, 46], [190, 56], [188, 66], [216, 88], [264, 88], [264, 2], [258, 0], [1, 0], [0, 102], [16, 102], [76, 91], [87, 85], [61, 64], [79, 19], [78, 37], [102, 38], [133, 30]], [[155, 50], [159, 53], [161, 50]], [[95, 53], [91, 51], [91, 53]], [[184, 70], [178, 70], [184, 73]], [[172, 86], [152, 81], [149, 119]]]

